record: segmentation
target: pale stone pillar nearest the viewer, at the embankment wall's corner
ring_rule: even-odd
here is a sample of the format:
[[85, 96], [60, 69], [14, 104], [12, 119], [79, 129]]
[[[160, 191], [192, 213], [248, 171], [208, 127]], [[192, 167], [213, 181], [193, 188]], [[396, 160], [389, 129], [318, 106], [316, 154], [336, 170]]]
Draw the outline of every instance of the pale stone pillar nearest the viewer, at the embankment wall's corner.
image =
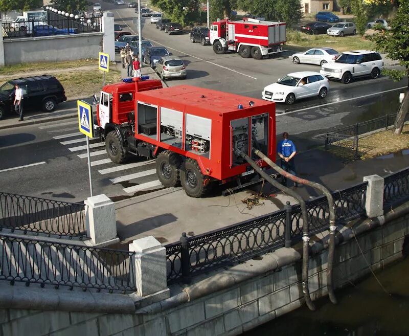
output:
[[142, 297], [167, 289], [166, 249], [154, 237], [134, 240], [129, 251], [135, 252], [134, 265], [138, 294]]

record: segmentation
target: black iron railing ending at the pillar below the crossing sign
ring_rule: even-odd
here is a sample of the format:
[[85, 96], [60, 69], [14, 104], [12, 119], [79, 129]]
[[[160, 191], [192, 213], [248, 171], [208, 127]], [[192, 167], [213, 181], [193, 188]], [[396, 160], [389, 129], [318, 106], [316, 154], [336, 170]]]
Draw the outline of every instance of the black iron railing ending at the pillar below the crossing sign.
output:
[[0, 192], [0, 230], [82, 239], [86, 235], [84, 212], [79, 203]]

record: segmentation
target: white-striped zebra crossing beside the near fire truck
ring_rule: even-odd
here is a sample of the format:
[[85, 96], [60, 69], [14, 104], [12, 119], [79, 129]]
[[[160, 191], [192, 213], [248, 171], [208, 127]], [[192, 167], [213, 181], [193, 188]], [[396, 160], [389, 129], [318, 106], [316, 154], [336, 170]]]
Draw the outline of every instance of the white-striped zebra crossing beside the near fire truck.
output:
[[[78, 126], [73, 128], [78, 121], [67, 121], [65, 123], [53, 123], [39, 126], [41, 130], [47, 132], [52, 139], [65, 146], [70, 152], [77, 154], [78, 158], [87, 164], [86, 139], [78, 130]], [[69, 128], [66, 126], [69, 125]], [[126, 194], [134, 194], [141, 191], [157, 190], [163, 188], [161, 182], [157, 180], [155, 160], [143, 158], [131, 158], [127, 164], [115, 164], [105, 151], [105, 143], [100, 143], [99, 139], [90, 139], [91, 166], [113, 185], [120, 184]]]

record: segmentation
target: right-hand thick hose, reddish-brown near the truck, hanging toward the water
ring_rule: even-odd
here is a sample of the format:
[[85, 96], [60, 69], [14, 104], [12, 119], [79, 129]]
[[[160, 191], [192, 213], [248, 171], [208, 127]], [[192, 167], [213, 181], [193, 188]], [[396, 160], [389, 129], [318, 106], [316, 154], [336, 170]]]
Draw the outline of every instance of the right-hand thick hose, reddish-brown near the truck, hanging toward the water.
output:
[[321, 191], [328, 200], [328, 208], [329, 208], [329, 247], [328, 247], [328, 266], [327, 266], [327, 289], [328, 289], [328, 296], [329, 299], [333, 304], [337, 303], [334, 287], [332, 282], [332, 270], [334, 264], [334, 253], [335, 253], [335, 206], [334, 206], [334, 199], [330, 193], [330, 191], [325, 188], [323, 185], [319, 183], [315, 183], [312, 181], [305, 180], [304, 178], [300, 178], [290, 174], [289, 172], [285, 171], [283, 168], [278, 166], [275, 162], [272, 162], [266, 155], [264, 155], [258, 149], [252, 148], [253, 152], [259, 156], [265, 163], [267, 163], [272, 169], [277, 171], [279, 174], [283, 175], [286, 178], [289, 178], [291, 181], [296, 183], [301, 183], [303, 185], [309, 186], [311, 188], [317, 189]]

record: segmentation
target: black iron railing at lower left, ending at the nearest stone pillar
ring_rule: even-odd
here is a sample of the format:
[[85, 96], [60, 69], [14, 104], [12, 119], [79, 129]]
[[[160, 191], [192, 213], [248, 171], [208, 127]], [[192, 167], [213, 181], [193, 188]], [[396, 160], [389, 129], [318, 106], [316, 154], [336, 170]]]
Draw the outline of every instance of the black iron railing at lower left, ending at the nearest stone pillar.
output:
[[0, 236], [0, 280], [135, 292], [133, 252]]

